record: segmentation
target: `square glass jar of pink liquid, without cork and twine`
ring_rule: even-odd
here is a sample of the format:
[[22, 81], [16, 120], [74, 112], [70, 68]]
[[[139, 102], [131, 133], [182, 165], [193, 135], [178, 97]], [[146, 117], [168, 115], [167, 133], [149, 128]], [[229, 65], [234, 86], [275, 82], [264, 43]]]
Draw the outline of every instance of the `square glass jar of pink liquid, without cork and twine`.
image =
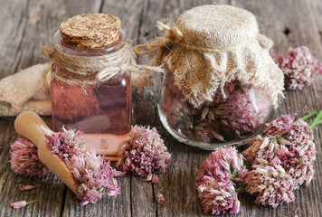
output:
[[[118, 42], [109, 47], [79, 48], [62, 40], [60, 31], [54, 35], [54, 46], [61, 52], [77, 56], [98, 56], [116, 52], [127, 42], [120, 29]], [[53, 71], [65, 78], [84, 80], [58, 65]], [[90, 80], [91, 78], [86, 78]], [[94, 78], [92, 78], [94, 79]], [[69, 84], [52, 78], [52, 125], [54, 131], [62, 126], [78, 129], [85, 134], [122, 135], [131, 128], [131, 75], [126, 71], [109, 80], [94, 84]]]

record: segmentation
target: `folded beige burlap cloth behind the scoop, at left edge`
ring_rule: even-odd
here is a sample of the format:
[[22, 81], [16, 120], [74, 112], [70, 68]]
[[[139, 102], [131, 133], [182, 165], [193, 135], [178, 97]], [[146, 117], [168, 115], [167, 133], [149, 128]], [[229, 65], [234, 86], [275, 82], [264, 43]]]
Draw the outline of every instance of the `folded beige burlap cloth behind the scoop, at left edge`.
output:
[[0, 116], [16, 116], [24, 110], [51, 115], [52, 105], [46, 76], [51, 62], [33, 65], [0, 80]]

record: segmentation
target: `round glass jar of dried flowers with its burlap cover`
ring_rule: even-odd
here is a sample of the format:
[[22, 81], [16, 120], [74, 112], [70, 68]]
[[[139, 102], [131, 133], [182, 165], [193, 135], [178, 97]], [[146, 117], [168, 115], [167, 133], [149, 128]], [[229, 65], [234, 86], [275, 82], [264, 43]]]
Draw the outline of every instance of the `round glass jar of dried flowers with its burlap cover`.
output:
[[166, 130], [208, 150], [241, 146], [260, 133], [279, 106], [284, 75], [254, 14], [202, 5], [180, 14], [175, 24], [156, 25], [164, 33], [135, 51], [157, 51], [149, 65], [166, 71], [158, 104]]

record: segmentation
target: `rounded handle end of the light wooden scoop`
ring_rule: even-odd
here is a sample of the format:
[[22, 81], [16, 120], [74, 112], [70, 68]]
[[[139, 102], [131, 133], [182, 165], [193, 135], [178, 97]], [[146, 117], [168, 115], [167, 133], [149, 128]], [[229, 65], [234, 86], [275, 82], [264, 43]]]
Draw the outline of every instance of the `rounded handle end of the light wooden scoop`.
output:
[[33, 111], [22, 112], [15, 119], [14, 128], [20, 136], [33, 142], [33, 144], [38, 148], [46, 144], [43, 142], [46, 140], [43, 130], [53, 133], [52, 130], [43, 122], [43, 119]]

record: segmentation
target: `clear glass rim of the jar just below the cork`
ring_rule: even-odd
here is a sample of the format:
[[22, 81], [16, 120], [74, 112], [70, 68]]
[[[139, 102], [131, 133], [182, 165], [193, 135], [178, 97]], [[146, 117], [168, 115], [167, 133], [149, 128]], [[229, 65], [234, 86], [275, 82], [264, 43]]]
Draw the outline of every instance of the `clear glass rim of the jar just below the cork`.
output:
[[114, 46], [99, 47], [99, 48], [86, 48], [86, 47], [75, 47], [66, 42], [63, 42], [62, 35], [59, 30], [54, 33], [53, 42], [55, 47], [61, 52], [65, 52], [75, 56], [98, 56], [108, 54], [110, 52], [116, 52], [128, 41], [127, 33], [123, 28], [119, 30], [120, 42]]

